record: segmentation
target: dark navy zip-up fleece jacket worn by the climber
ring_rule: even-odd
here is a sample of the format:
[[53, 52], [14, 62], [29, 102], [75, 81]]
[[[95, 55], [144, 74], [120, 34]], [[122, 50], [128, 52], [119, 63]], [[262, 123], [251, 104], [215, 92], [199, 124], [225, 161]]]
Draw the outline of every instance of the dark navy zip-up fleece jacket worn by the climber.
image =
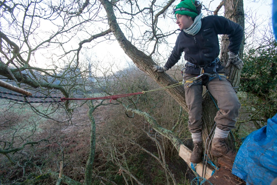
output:
[[[213, 62], [219, 55], [219, 34], [227, 34], [230, 44], [228, 49], [238, 54], [239, 46], [243, 39], [243, 28], [227, 18], [217, 15], [210, 15], [201, 19], [202, 26], [196, 35], [190, 35], [183, 30], [179, 33], [173, 51], [165, 66], [171, 68], [185, 53], [185, 60], [195, 65], [205, 65]], [[212, 69], [206, 67], [207, 72]], [[214, 68], [214, 65], [210, 68]], [[223, 69], [220, 63], [217, 71]], [[185, 73], [200, 74], [200, 68], [188, 66]]]

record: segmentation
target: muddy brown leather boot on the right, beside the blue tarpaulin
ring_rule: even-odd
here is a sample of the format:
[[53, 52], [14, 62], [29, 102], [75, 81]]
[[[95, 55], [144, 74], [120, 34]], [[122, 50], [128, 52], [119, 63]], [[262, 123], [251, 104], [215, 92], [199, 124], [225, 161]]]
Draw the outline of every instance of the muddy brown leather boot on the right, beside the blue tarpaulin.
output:
[[223, 156], [234, 162], [237, 153], [232, 151], [231, 148], [227, 146], [226, 140], [227, 138], [213, 138], [211, 154], [215, 157]]

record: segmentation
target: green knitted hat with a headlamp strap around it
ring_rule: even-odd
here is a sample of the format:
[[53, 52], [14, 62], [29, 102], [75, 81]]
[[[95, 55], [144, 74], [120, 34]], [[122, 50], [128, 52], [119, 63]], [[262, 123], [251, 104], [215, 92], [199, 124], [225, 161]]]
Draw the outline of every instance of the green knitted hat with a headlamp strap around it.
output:
[[198, 14], [196, 7], [192, 1], [194, 0], [181, 1], [174, 9], [175, 16], [176, 14], [181, 14], [195, 18]]

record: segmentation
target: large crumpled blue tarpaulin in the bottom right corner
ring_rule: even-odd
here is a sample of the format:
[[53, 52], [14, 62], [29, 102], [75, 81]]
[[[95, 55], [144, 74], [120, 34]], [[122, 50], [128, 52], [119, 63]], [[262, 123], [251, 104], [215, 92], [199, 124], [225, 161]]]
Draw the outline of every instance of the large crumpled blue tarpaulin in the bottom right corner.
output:
[[270, 185], [277, 177], [277, 114], [249, 134], [237, 153], [232, 174], [248, 185]]

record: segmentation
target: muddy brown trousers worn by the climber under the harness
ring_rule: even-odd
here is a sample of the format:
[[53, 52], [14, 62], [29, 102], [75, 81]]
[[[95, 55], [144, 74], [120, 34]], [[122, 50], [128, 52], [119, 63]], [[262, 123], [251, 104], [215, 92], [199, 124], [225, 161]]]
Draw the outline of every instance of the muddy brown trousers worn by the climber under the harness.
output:
[[[185, 74], [184, 80], [193, 78], [197, 75]], [[208, 76], [205, 76], [198, 84], [187, 87], [189, 83], [184, 84], [186, 103], [188, 107], [189, 121], [188, 127], [191, 133], [197, 133], [202, 131], [202, 93], [203, 85], [217, 100], [219, 111], [216, 113], [215, 122], [216, 126], [223, 130], [229, 131], [235, 128], [236, 117], [239, 115], [240, 103], [239, 99], [233, 89], [231, 83], [221, 77], [215, 78], [209, 81]]]

